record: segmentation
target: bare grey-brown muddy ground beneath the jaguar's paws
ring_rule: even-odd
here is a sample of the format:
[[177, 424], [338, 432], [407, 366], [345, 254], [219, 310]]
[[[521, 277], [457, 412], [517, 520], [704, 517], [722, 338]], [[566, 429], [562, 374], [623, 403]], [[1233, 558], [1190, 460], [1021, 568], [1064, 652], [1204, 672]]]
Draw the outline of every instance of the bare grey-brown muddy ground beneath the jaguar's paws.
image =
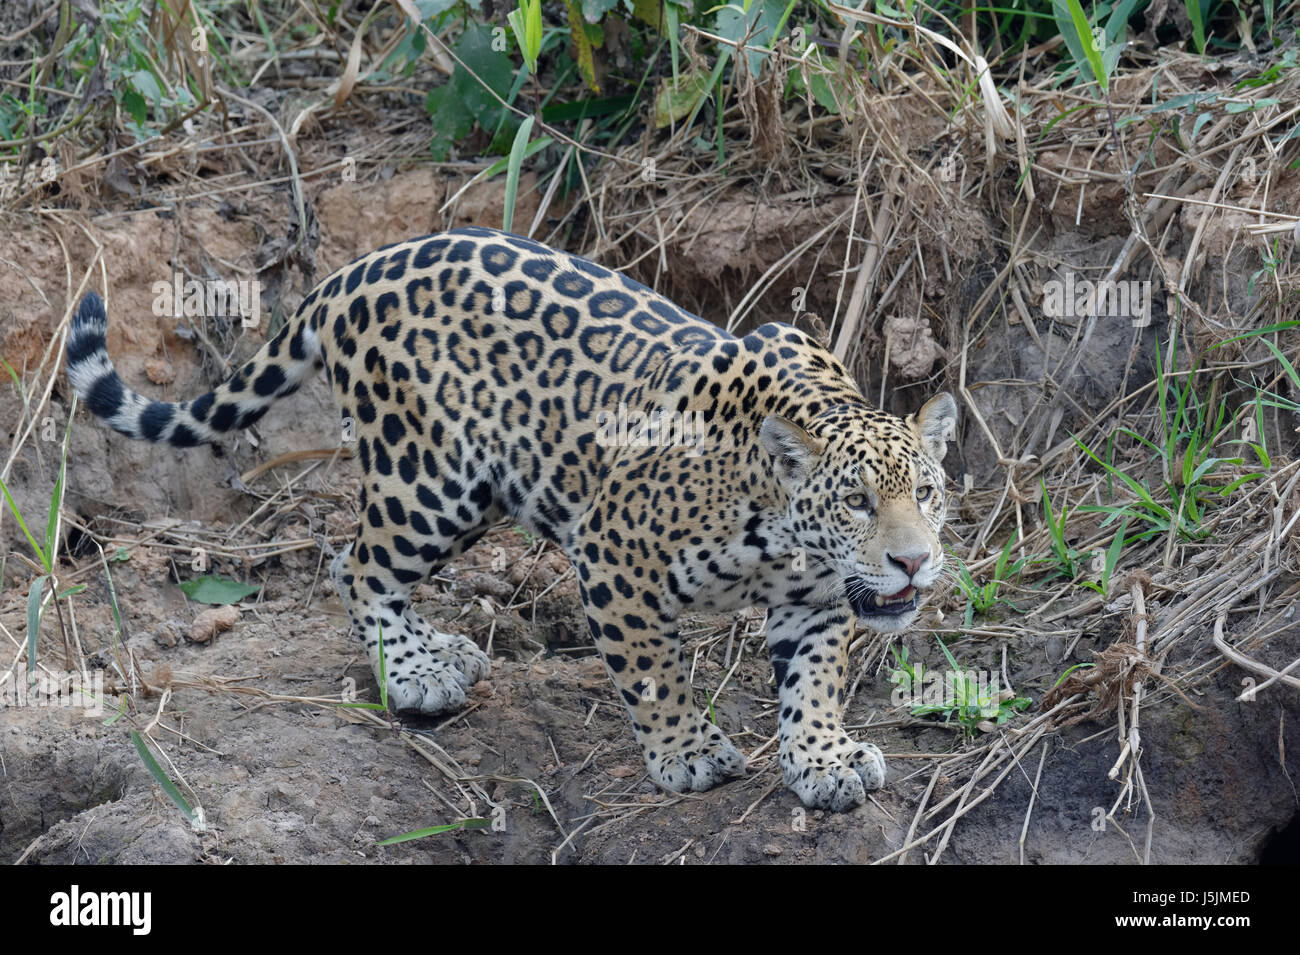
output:
[[[502, 528], [467, 555], [465, 567], [484, 563], [498, 547], [512, 564], [532, 563], [537, 551], [517, 531]], [[582, 620], [572, 577], [562, 576], [536, 603], [530, 592], [547, 585], [541, 582], [545, 576], [530, 581], [516, 600], [525, 605], [503, 612], [497, 605], [510, 592], [497, 586], [500, 577], [468, 569], [426, 585], [419, 605], [428, 618], [481, 646], [490, 634], [491, 678], [473, 689], [464, 713], [403, 717], [400, 725], [428, 743], [439, 764], [477, 780], [490, 800], [485, 804], [468, 785], [456, 786], [404, 745], [393, 726], [352, 721], [338, 707], [285, 699], [338, 698], [352, 686], [358, 699], [377, 699], [359, 647], [344, 635], [342, 607], [324, 592], [312, 560], [295, 555], [280, 561], [266, 573], [260, 600], [246, 607], [233, 629], [205, 643], [183, 635], [194, 608], [174, 585], [160, 586], [165, 568], [134, 563], [114, 568], [118, 600], [130, 617], [129, 644], [152, 683], [173, 686], [161, 709], [160, 696], [140, 696], [136, 721], [159, 715], [153, 735], [202, 807], [205, 825], [182, 819], [126, 732], [105, 728], [103, 717], [72, 709], [8, 711], [0, 737], [3, 858], [868, 863], [904, 845], [918, 799], [931, 783], [935, 755], [966, 746], [959, 732], [910, 720], [893, 706], [887, 674], [858, 673], [848, 722], [885, 751], [890, 778], [854, 812], [806, 812], [780, 785], [772, 747], [764, 746], [776, 730], [775, 690], [753, 633], [759, 621], [751, 615], [738, 618], [732, 663], [738, 656], [740, 665], [714, 703], [718, 724], [732, 739], [748, 752], [758, 751], [750, 774], [702, 795], [663, 794], [645, 776], [598, 659], [573, 639], [582, 633]], [[688, 659], [701, 707], [731, 670], [725, 652], [733, 622], [699, 618], [684, 628], [693, 631]], [[101, 583], [79, 603], [78, 626], [88, 647], [110, 652], [113, 622]], [[937, 656], [923, 634], [906, 642], [913, 660]], [[1069, 659], [1084, 656], [1086, 646]], [[997, 651], [988, 651], [992, 660]], [[1300, 630], [1283, 635], [1277, 651], [1300, 651]], [[1035, 700], [1065, 667], [1048, 642], [1013, 654], [1014, 685]], [[1294, 808], [1295, 793], [1279, 760], [1296, 751], [1297, 713], [1277, 703], [1234, 703], [1235, 683], [1223, 672], [1196, 700], [1200, 708], [1165, 699], [1147, 711], [1144, 772], [1156, 809], [1157, 863], [1254, 861], [1278, 828], [1274, 820], [1286, 820]], [[244, 689], [272, 698], [243, 695]], [[1113, 734], [1098, 735], [1096, 724], [1060, 734], [1041, 765], [1035, 752], [958, 821], [944, 860], [1135, 861], [1145, 838], [1141, 807], [1134, 807], [1127, 832], [1097, 826], [1118, 791], [1106, 778], [1117, 752]], [[962, 785], [963, 778], [940, 777], [931, 803]], [[491, 819], [494, 826], [376, 845], [464, 817]], [[914, 863], [923, 859], [918, 850], [909, 856]]]

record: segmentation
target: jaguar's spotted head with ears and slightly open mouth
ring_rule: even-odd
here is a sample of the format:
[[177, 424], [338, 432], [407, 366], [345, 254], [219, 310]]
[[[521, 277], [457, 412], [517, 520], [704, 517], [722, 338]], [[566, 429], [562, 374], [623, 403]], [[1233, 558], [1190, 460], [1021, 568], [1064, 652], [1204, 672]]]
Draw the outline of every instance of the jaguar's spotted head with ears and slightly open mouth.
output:
[[939, 578], [946, 513], [941, 461], [957, 403], [941, 392], [907, 418], [835, 405], [805, 430], [779, 414], [759, 437], [789, 499], [815, 595], [848, 602], [867, 626], [897, 631]]

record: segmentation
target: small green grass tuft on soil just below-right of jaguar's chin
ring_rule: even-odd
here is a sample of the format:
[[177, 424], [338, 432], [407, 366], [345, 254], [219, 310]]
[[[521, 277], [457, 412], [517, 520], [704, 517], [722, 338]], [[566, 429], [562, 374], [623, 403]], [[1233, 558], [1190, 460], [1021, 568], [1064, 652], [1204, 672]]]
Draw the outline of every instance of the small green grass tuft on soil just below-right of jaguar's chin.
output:
[[1001, 726], [1032, 703], [1028, 696], [1000, 689], [996, 676], [982, 680], [975, 670], [965, 669], [941, 639], [939, 647], [950, 668], [946, 673], [926, 670], [919, 663], [913, 665], [907, 663], [907, 647], [890, 647], [898, 668], [889, 681], [897, 686], [896, 694], [913, 700], [913, 716], [942, 715], [944, 722], [956, 720], [974, 737]]

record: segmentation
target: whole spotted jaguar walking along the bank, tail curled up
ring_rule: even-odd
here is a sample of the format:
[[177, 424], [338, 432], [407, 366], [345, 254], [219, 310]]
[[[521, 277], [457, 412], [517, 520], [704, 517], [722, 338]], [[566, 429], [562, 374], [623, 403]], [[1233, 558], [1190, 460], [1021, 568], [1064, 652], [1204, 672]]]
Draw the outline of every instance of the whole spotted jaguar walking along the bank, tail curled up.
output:
[[[906, 628], [939, 577], [950, 395], [888, 414], [796, 327], [731, 335], [621, 273], [490, 229], [343, 266], [190, 401], [126, 387], [107, 321], [87, 294], [68, 376], [131, 438], [216, 442], [328, 376], [363, 474], [360, 526], [330, 573], [394, 708], [456, 709], [488, 676], [484, 651], [426, 624], [412, 594], [508, 518], [568, 555], [656, 783], [699, 791], [745, 773], [694, 704], [677, 630], [684, 613], [746, 607], [767, 608], [786, 786], [844, 811], [884, 783], [880, 751], [841, 722], [849, 641], [854, 620]], [[618, 416], [693, 427], [647, 440], [610, 427]]]

